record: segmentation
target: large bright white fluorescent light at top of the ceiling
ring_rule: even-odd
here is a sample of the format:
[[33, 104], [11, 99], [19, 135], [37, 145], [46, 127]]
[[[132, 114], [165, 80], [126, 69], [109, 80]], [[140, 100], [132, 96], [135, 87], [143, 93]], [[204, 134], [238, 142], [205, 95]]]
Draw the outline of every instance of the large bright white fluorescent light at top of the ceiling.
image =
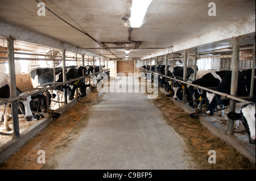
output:
[[131, 5], [131, 28], [139, 28], [143, 24], [144, 16], [152, 0], [133, 0]]

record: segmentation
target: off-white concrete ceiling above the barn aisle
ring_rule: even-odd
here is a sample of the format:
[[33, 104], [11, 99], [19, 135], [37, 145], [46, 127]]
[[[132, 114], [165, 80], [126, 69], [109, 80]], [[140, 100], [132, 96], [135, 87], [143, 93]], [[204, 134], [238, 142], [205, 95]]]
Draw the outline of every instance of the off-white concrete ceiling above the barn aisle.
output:
[[211, 0], [152, 0], [140, 28], [122, 25], [131, 0], [42, 0], [52, 11], [46, 10], [46, 16], [38, 16], [38, 2], [0, 0], [0, 20], [107, 58], [124, 58], [125, 49], [108, 49], [104, 42], [141, 41], [137, 49], [130, 49], [129, 56], [135, 59], [168, 53], [170, 47], [211, 47], [209, 43], [222, 45], [233, 36], [255, 36], [254, 0], [214, 0], [216, 16], [208, 15]]

